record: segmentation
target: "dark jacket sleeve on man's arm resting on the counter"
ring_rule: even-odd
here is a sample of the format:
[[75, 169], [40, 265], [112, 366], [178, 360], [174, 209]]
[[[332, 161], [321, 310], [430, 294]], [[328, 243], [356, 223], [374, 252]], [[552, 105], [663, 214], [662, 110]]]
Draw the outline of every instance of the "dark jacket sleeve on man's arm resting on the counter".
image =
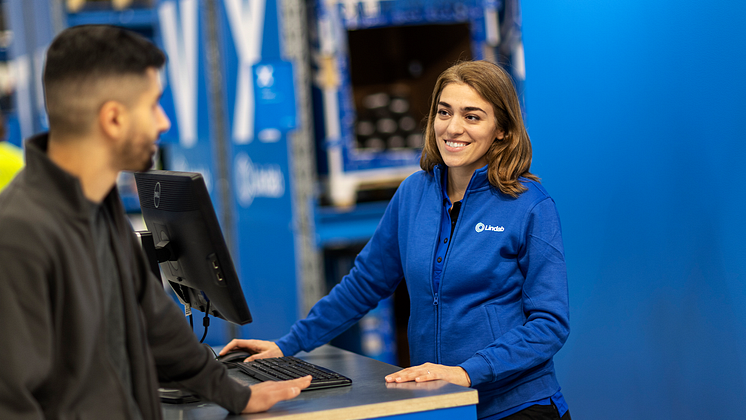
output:
[[199, 343], [183, 312], [165, 293], [162, 283], [148, 269], [139, 246], [135, 246], [138, 272], [143, 279], [140, 308], [158, 380], [178, 382], [233, 413], [241, 412], [249, 401], [251, 389], [230, 378], [210, 349]]

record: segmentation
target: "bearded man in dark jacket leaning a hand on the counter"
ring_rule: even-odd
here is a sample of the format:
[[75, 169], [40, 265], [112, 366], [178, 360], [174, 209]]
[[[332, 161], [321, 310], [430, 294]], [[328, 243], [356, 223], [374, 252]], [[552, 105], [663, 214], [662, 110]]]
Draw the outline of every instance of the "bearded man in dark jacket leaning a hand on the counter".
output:
[[0, 418], [158, 419], [158, 382], [231, 412], [293, 398], [310, 377], [228, 377], [149, 273], [115, 188], [152, 165], [170, 122], [163, 53], [123, 29], [63, 31], [47, 52], [49, 133], [0, 194]]

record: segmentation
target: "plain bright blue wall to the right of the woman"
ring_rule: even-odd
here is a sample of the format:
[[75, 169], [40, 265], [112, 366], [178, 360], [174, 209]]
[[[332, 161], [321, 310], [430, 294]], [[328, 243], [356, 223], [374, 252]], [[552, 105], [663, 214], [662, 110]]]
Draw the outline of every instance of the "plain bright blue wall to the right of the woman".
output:
[[562, 216], [576, 419], [743, 418], [746, 4], [523, 4], [533, 171]]

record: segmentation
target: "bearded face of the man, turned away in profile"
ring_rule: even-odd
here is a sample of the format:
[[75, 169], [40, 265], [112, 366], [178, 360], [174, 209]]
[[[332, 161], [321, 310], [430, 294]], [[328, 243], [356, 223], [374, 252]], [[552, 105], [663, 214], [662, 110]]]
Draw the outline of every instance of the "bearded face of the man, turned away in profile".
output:
[[171, 122], [159, 103], [162, 93], [158, 71], [149, 68], [147, 88], [129, 107], [127, 136], [117, 150], [121, 170], [144, 171], [153, 166], [153, 157], [158, 150], [156, 142], [161, 133], [171, 127]]

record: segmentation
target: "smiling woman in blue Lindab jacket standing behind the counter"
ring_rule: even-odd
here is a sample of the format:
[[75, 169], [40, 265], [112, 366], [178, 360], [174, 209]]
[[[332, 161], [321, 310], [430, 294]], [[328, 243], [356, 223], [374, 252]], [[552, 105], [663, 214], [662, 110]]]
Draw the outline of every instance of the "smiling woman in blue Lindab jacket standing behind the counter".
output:
[[569, 419], [552, 358], [569, 334], [554, 202], [529, 172], [531, 143], [510, 77], [456, 64], [433, 90], [422, 171], [397, 190], [350, 273], [276, 343], [292, 355], [347, 329], [406, 278], [413, 366], [387, 382], [442, 379], [479, 390], [487, 419]]

